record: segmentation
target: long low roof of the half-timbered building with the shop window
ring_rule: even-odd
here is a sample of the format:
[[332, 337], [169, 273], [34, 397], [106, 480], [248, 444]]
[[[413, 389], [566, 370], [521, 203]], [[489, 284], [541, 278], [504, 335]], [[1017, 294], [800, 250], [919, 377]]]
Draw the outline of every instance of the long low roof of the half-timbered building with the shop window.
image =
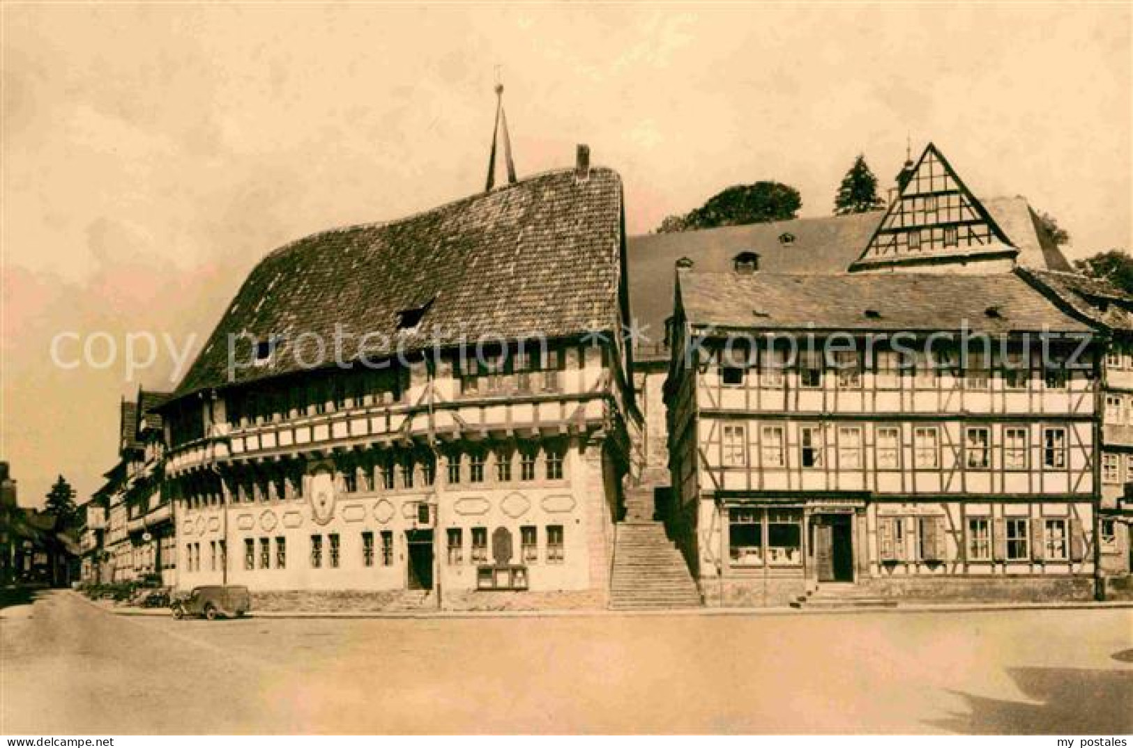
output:
[[681, 270], [679, 283], [684, 313], [699, 326], [913, 332], [959, 330], [966, 325], [989, 334], [1091, 329], [1064, 315], [1013, 273], [741, 275]]

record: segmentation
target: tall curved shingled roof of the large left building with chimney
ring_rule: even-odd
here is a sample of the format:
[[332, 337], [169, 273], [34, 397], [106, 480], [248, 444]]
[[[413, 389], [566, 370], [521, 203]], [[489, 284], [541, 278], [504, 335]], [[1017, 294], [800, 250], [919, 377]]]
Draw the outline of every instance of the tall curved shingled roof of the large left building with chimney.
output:
[[[245, 367], [235, 381], [333, 364], [335, 325], [372, 358], [435, 344], [542, 333], [548, 337], [614, 330], [617, 324], [622, 183], [591, 167], [531, 177], [385, 224], [338, 229], [269, 255], [245, 281], [176, 397], [228, 378], [229, 335], [280, 336], [270, 364]], [[399, 333], [399, 312], [427, 307], [417, 332]], [[399, 337], [400, 336], [400, 337]], [[254, 343], [238, 339], [237, 360]], [[346, 342], [343, 359], [358, 354]]]

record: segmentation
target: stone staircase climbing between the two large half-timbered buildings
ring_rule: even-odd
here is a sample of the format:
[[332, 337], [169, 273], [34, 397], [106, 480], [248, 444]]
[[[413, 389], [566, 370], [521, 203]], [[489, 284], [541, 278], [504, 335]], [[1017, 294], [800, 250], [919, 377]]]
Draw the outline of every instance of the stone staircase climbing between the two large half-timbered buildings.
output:
[[617, 523], [610, 607], [615, 610], [699, 608], [689, 567], [654, 519], [654, 487], [625, 492], [625, 518]]

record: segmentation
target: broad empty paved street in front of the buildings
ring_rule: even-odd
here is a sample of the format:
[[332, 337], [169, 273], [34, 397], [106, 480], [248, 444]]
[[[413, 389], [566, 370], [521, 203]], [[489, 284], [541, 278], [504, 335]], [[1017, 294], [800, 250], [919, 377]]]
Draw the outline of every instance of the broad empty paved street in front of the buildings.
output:
[[0, 732], [1133, 732], [1133, 610], [174, 621], [5, 608]]

